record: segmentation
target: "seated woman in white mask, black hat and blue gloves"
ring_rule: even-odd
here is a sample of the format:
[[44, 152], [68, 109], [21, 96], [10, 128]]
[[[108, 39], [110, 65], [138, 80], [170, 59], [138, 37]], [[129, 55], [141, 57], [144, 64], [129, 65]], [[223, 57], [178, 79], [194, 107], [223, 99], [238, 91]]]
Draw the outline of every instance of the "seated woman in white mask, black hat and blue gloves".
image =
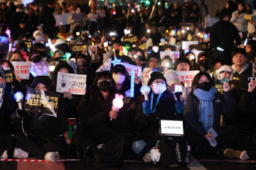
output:
[[159, 120], [170, 120], [175, 117], [175, 100], [173, 94], [166, 88], [166, 80], [162, 73], [152, 72], [148, 80], [148, 86], [151, 88], [148, 93], [148, 101], [145, 101], [142, 95], [138, 101], [136, 110], [135, 127], [138, 129], [138, 135], [132, 144], [132, 150], [141, 158], [148, 150], [155, 147], [151, 144], [154, 134], [159, 133]]

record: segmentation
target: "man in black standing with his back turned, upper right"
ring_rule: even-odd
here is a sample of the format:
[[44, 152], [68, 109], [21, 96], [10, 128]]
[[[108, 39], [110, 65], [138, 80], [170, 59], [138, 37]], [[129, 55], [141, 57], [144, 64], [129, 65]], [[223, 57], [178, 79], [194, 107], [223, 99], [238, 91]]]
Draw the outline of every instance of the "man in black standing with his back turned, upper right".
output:
[[215, 61], [219, 59], [222, 64], [230, 65], [230, 52], [233, 50], [234, 40], [236, 41], [236, 45], [241, 44], [238, 29], [229, 20], [228, 15], [223, 15], [221, 20], [211, 28], [211, 49], [214, 50], [211, 61], [213, 63], [216, 63]]

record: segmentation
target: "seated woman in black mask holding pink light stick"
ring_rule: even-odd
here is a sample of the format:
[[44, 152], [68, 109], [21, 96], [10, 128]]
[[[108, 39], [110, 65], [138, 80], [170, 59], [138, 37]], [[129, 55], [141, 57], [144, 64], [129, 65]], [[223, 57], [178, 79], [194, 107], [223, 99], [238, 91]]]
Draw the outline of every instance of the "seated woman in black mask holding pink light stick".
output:
[[113, 142], [121, 142], [122, 139], [117, 132], [120, 128], [117, 126], [120, 121], [118, 112], [111, 109], [116, 93], [118, 93], [116, 82], [108, 72], [99, 72], [94, 83], [86, 90], [86, 94], [78, 105], [80, 123], [72, 140], [72, 146], [78, 152], [78, 158], [83, 156], [83, 151], [88, 146], [97, 147], [102, 144], [104, 147]]

